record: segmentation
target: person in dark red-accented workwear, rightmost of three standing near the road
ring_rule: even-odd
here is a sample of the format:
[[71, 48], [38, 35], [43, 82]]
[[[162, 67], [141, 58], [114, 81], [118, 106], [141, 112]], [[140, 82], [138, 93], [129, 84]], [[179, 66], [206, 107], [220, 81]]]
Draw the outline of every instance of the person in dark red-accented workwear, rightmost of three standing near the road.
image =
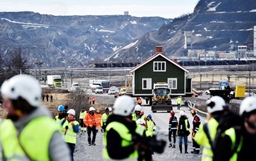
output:
[[190, 112], [191, 112], [191, 115], [193, 116], [193, 129], [192, 129], [192, 134], [191, 134], [191, 139], [193, 141], [193, 151], [191, 151], [191, 153], [199, 154], [200, 146], [196, 143], [194, 136], [195, 136], [196, 132], [198, 132], [201, 120], [200, 120], [200, 117], [198, 117], [196, 115], [197, 111], [195, 109], [192, 109]]

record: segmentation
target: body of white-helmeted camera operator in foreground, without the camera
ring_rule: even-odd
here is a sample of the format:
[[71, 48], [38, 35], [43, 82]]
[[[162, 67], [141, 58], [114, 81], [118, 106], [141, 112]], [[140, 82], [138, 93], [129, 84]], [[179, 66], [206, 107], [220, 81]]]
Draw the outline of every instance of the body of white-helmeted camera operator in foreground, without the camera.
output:
[[118, 97], [113, 115], [108, 116], [103, 137], [103, 160], [138, 160], [140, 143], [132, 141], [136, 135], [136, 123], [132, 121], [135, 101], [128, 95]]

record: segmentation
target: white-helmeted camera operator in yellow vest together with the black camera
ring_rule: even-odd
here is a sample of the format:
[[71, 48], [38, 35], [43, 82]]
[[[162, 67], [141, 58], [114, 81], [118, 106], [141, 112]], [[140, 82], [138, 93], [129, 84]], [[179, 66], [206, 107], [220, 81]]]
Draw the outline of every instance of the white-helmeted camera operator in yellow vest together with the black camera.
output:
[[108, 116], [106, 130], [104, 130], [104, 160], [137, 161], [141, 151], [163, 153], [166, 142], [157, 141], [156, 136], [143, 135], [144, 127], [139, 130], [140, 128], [138, 129], [136, 123], [132, 121], [131, 113], [135, 105], [134, 99], [127, 95], [116, 99], [113, 115]]

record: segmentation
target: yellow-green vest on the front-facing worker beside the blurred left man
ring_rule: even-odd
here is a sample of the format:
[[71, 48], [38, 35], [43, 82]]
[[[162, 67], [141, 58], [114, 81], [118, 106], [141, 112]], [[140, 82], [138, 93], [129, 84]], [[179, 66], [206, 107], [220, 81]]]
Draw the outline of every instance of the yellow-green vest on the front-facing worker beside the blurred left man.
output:
[[[79, 122], [77, 121], [73, 121], [73, 122], [75, 123], [75, 125], [79, 125]], [[65, 120], [65, 122], [62, 125], [63, 128], [65, 128], [66, 126], [68, 126], [66, 134], [65, 132], [63, 132], [63, 137], [65, 142], [76, 144], [76, 132], [74, 132], [73, 126], [71, 125], [71, 123], [68, 122], [68, 120]]]

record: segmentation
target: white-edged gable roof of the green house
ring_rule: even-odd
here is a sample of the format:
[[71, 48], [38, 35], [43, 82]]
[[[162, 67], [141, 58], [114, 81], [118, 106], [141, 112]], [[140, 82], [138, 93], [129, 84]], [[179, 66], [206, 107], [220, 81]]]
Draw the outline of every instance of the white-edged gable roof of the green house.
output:
[[145, 64], [147, 64], [148, 62], [150, 62], [151, 60], [154, 60], [156, 57], [163, 57], [164, 59], [168, 60], [169, 62], [171, 62], [172, 64], [174, 64], [175, 66], [179, 67], [180, 69], [182, 69], [183, 71], [186, 71], [186, 73], [189, 73], [188, 69], [180, 66], [177, 62], [174, 62], [172, 59], [166, 57], [163, 53], [157, 53], [155, 55], [153, 55], [152, 57], [149, 57], [147, 60], [145, 60], [144, 62], [141, 62], [141, 64], [139, 64], [136, 67], [133, 67], [131, 69], [131, 73], [133, 73], [134, 71], [136, 71], [137, 69], [139, 69], [140, 67], [144, 66]]

